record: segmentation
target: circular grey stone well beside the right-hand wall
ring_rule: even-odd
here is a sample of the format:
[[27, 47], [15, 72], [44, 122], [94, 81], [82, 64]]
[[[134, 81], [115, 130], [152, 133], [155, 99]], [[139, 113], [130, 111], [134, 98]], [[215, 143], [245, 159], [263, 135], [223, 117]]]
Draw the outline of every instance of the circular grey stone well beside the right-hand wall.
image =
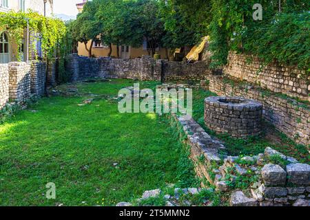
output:
[[205, 124], [216, 133], [245, 138], [258, 135], [261, 123], [262, 104], [259, 102], [225, 96], [205, 99]]

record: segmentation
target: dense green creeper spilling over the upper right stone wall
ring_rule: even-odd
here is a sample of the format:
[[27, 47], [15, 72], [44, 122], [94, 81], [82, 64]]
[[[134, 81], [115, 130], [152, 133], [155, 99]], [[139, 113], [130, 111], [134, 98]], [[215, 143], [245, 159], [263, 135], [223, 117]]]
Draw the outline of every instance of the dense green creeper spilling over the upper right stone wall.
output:
[[310, 68], [310, 14], [276, 14], [269, 23], [249, 26], [242, 35], [243, 50], [287, 65]]

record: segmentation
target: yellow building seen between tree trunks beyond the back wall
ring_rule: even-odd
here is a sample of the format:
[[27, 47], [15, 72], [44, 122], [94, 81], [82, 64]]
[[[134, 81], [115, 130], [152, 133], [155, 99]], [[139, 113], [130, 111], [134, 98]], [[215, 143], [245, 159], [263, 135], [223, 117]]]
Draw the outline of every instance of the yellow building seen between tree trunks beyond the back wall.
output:
[[[79, 10], [79, 12], [83, 11], [83, 7], [87, 3], [87, 0], [83, 0], [81, 3], [76, 4], [76, 8]], [[87, 49], [90, 49], [91, 41], [88, 41], [87, 43]], [[127, 45], [121, 45], [118, 47], [119, 56], [120, 58], [138, 58], [142, 57], [144, 55], [148, 55], [147, 52], [147, 43], [146, 41], [141, 42], [141, 47], [131, 47]], [[110, 48], [107, 45], [103, 45], [101, 41], [96, 41], [92, 45], [92, 56], [95, 57], [105, 57], [108, 56], [110, 52]], [[167, 51], [165, 48], [157, 48], [156, 52], [161, 55], [161, 58], [167, 58]], [[78, 54], [80, 56], [88, 56], [89, 53], [87, 52], [85, 48], [85, 44], [79, 42], [78, 43]], [[117, 46], [112, 45], [112, 57], [117, 57]]]

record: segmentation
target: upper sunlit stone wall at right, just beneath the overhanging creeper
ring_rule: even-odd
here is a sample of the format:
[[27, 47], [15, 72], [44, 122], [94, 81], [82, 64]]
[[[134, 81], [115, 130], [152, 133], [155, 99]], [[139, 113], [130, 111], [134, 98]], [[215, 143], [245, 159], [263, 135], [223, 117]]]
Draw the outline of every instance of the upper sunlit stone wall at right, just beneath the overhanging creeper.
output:
[[263, 89], [310, 101], [310, 76], [307, 76], [306, 70], [275, 62], [265, 66], [254, 56], [232, 52], [228, 61], [224, 73], [229, 76], [260, 85]]

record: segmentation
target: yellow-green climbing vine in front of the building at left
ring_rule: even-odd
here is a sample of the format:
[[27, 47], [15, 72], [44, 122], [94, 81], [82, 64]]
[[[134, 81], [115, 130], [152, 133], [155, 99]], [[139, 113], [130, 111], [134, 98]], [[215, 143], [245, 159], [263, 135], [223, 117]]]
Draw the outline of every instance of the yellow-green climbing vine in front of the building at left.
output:
[[[43, 54], [46, 56], [52, 57], [54, 52], [65, 52], [63, 43], [65, 43], [66, 28], [65, 24], [60, 19], [44, 17], [31, 10], [28, 12], [0, 12], [1, 32], [8, 32], [19, 46], [21, 46], [23, 33], [27, 29], [27, 21], [29, 21], [30, 41], [32, 42], [30, 54], [37, 54], [35, 52], [34, 34], [39, 34], [41, 48]], [[17, 60], [20, 60], [21, 54], [18, 52], [16, 52], [16, 54]]]

